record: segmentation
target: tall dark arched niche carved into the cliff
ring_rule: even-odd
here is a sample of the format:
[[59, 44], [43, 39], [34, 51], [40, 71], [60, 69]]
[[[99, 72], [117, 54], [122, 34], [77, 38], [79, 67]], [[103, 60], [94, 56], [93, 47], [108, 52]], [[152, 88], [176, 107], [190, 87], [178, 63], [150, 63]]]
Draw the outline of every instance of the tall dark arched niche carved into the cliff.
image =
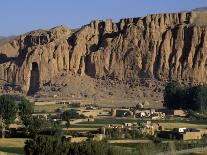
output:
[[28, 95], [33, 96], [39, 89], [39, 67], [36, 62], [32, 63]]

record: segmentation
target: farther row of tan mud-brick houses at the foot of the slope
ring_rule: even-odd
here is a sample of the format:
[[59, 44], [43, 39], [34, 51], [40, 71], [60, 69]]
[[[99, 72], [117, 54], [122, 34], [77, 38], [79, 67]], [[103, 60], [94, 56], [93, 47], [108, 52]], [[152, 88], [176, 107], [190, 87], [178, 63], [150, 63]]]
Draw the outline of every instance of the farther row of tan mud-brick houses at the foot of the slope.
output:
[[[67, 104], [68, 108], [75, 109], [79, 115], [89, 118], [103, 118], [103, 117], [126, 117], [126, 118], [137, 118], [137, 119], [152, 119], [159, 120], [164, 119], [166, 116], [180, 116], [185, 117], [186, 112], [183, 110], [169, 110], [169, 109], [153, 109], [144, 108], [143, 104], [137, 104], [135, 107], [120, 107], [120, 108], [101, 108], [94, 104], [82, 105], [78, 101], [60, 101], [56, 104]], [[61, 112], [61, 110], [60, 110]], [[56, 112], [56, 113], [60, 113]], [[39, 117], [46, 117], [45, 114], [37, 114]], [[44, 116], [43, 116], [44, 115]], [[57, 114], [58, 115], [58, 114]]]

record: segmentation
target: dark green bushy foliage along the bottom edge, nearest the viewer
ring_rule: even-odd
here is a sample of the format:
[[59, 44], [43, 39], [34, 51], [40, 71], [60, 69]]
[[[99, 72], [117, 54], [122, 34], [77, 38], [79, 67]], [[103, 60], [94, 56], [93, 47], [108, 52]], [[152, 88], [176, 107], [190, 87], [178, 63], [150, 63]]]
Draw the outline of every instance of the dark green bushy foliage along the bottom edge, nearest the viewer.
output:
[[36, 136], [25, 142], [26, 155], [130, 155], [124, 149], [111, 147], [105, 142], [66, 142], [57, 136]]

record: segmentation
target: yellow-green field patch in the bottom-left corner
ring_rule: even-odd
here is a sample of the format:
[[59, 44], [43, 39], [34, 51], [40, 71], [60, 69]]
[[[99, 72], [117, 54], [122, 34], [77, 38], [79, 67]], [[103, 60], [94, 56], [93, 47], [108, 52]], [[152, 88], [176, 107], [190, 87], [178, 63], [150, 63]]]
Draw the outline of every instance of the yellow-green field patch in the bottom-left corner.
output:
[[5, 152], [8, 155], [23, 155], [25, 141], [25, 138], [0, 139], [0, 151]]

